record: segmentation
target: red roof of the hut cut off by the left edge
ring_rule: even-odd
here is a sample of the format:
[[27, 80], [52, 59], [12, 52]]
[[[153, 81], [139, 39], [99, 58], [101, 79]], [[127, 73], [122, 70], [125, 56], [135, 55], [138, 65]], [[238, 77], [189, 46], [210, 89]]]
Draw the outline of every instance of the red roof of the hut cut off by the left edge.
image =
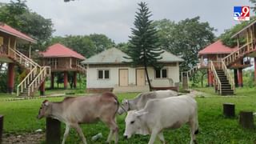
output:
[[15, 36], [17, 38], [20, 38], [20, 39], [22, 39], [23, 41], [26, 41], [26, 42], [36, 43], [36, 40], [34, 40], [33, 38], [30, 38], [26, 34], [23, 34], [22, 32], [14, 29], [11, 26], [6, 25], [5, 23], [0, 22], [0, 31], [2, 31], [6, 34], [13, 35], [13, 36]]

